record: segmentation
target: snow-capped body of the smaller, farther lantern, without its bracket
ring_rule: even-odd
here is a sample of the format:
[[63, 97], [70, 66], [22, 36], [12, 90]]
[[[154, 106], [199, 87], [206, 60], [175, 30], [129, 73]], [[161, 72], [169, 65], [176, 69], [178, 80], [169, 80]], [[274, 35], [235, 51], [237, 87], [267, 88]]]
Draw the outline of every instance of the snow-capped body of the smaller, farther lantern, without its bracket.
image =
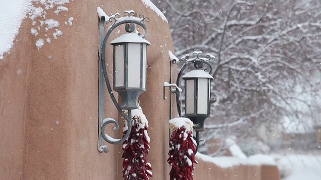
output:
[[196, 124], [195, 131], [205, 131], [204, 120], [209, 116], [211, 79], [204, 70], [192, 70], [182, 76], [185, 80], [185, 116]]

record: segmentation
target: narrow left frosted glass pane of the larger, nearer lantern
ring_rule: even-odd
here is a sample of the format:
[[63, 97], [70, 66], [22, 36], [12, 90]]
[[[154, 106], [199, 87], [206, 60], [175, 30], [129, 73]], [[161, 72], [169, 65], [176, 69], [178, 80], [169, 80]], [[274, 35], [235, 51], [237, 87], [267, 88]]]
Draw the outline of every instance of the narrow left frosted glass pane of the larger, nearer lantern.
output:
[[124, 86], [124, 46], [115, 46], [115, 87]]

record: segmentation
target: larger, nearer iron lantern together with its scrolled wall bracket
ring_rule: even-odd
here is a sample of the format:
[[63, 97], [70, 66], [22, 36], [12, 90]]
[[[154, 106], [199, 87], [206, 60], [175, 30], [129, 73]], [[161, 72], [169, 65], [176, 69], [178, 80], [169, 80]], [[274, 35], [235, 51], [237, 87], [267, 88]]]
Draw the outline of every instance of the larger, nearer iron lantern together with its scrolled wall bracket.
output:
[[[100, 10], [100, 11], [99, 11]], [[120, 17], [119, 13], [105, 19], [107, 16], [102, 9], [98, 8], [99, 14], [99, 136], [98, 136], [98, 151], [108, 152], [106, 145], [103, 145], [103, 140], [112, 144], [122, 143], [128, 138], [131, 128], [128, 128], [126, 134], [121, 139], [115, 139], [105, 133], [107, 124], [113, 123], [113, 130], [118, 130], [119, 124], [113, 118], [104, 118], [104, 82], [106, 83], [109, 95], [117, 108], [118, 112], [126, 120], [127, 126], [132, 126], [131, 110], [138, 108], [138, 97], [146, 91], [146, 59], [147, 45], [150, 43], [145, 39], [147, 28], [144, 21], [149, 21], [149, 18], [140, 14], [138, 17], [133, 16], [133, 10], [124, 12], [124, 17]], [[108, 31], [105, 34], [104, 24], [111, 22]], [[125, 24], [127, 33], [112, 40], [113, 45], [113, 89], [121, 96], [121, 104], [119, 104], [114, 96], [114, 93], [109, 82], [105, 51], [106, 44], [111, 32], [119, 25]], [[144, 34], [136, 33], [135, 25], [143, 28]], [[127, 114], [123, 110], [127, 110]]]

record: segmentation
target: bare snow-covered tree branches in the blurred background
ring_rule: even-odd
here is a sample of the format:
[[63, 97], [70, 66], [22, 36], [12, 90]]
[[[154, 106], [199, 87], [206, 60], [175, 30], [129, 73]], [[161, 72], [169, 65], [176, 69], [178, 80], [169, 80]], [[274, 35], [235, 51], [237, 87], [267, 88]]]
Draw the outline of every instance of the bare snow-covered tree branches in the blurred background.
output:
[[[321, 68], [318, 0], [153, 0], [171, 26], [176, 55], [216, 55], [207, 134], [253, 135], [260, 122], [306, 115]], [[300, 86], [299, 90], [296, 88]]]

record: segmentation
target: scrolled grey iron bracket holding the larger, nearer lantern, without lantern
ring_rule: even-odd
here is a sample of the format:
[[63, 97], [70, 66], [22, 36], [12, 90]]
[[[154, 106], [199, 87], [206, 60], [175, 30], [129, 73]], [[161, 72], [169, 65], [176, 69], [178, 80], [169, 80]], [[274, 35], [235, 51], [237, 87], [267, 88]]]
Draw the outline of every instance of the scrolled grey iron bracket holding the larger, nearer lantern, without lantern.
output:
[[[109, 79], [108, 79], [108, 73], [106, 68], [106, 62], [105, 62], [105, 51], [106, 51], [106, 44], [108, 41], [108, 38], [111, 34], [111, 32], [118, 26], [122, 24], [125, 25], [125, 30], [127, 32], [133, 32], [135, 30], [134, 24], [137, 24], [141, 26], [144, 29], [144, 35], [142, 38], [144, 38], [147, 35], [147, 28], [145, 25], [145, 21], [148, 22], [149, 18], [144, 17], [144, 15], [140, 14], [138, 17], [134, 16], [135, 12], [133, 10], [126, 10], [124, 12], [124, 17], [120, 17], [119, 13], [116, 13], [106, 20], [105, 16], [99, 17], [99, 125], [98, 125], [98, 151], [99, 152], [108, 152], [108, 148], [106, 145], [103, 145], [103, 139], [111, 144], [119, 144], [125, 141], [130, 132], [131, 132], [131, 126], [133, 123], [133, 120], [131, 118], [131, 109], [128, 109], [127, 114], [124, 113], [124, 111], [120, 108], [110, 85]], [[105, 23], [112, 23], [107, 30], [107, 33], [105, 34], [104, 24]], [[103, 80], [104, 79], [104, 80]], [[104, 81], [107, 86], [107, 90], [109, 92], [109, 95], [117, 108], [118, 112], [124, 117], [124, 121], [128, 127], [126, 134], [121, 139], [115, 139], [109, 136], [105, 133], [105, 128], [108, 124], [113, 123], [115, 126], [112, 127], [112, 130], [118, 130], [119, 129], [119, 123], [113, 119], [113, 118], [105, 118], [104, 119]], [[135, 122], [134, 122], [135, 123]]]

